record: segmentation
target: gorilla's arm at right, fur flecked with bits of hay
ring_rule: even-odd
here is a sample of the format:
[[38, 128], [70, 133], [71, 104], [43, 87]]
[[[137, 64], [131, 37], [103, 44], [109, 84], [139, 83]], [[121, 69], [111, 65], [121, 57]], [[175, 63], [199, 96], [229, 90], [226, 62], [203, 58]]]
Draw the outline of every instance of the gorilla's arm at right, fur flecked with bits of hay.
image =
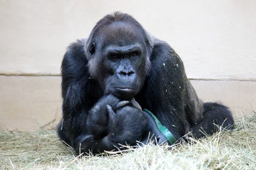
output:
[[201, 101], [186, 77], [182, 60], [166, 42], [155, 43], [150, 60], [151, 70], [136, 99], [180, 139], [191, 131], [190, 123], [201, 119]]

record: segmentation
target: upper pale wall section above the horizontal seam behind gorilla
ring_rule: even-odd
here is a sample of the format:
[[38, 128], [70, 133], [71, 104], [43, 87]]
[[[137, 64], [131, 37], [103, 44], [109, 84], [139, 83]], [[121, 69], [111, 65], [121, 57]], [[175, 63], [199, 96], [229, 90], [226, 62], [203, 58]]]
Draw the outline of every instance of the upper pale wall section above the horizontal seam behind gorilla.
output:
[[65, 47], [116, 10], [169, 42], [188, 77], [256, 80], [255, 0], [2, 0], [0, 72], [59, 74]]

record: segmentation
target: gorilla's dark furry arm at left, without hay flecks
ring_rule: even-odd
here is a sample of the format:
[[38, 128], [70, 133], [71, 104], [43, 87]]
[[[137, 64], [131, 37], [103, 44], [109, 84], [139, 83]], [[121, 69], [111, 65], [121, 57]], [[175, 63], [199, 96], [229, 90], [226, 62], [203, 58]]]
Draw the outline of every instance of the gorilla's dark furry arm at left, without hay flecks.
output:
[[64, 54], [61, 65], [63, 117], [58, 125], [58, 135], [72, 147], [76, 136], [79, 136], [83, 130], [87, 130], [87, 115], [93, 105], [89, 102], [88, 89], [90, 88], [87, 86], [93, 86], [93, 83], [89, 82], [87, 59], [82, 48], [84, 43], [85, 40], [78, 40], [71, 44]]

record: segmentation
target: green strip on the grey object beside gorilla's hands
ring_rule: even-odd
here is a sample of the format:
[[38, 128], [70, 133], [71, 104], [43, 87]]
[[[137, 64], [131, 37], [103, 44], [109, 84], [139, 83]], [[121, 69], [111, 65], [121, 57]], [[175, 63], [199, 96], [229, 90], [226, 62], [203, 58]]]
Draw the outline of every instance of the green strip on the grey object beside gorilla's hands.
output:
[[151, 113], [151, 111], [148, 111], [147, 109], [143, 109], [143, 111], [150, 114], [150, 116], [154, 119], [154, 122], [156, 122], [158, 130], [166, 137], [166, 139], [170, 144], [175, 144], [175, 142], [177, 142], [177, 140], [175, 139], [173, 134], [170, 132], [170, 130], [168, 130], [165, 126], [163, 126], [161, 122], [157, 119], [157, 117], [154, 116], [153, 113]]

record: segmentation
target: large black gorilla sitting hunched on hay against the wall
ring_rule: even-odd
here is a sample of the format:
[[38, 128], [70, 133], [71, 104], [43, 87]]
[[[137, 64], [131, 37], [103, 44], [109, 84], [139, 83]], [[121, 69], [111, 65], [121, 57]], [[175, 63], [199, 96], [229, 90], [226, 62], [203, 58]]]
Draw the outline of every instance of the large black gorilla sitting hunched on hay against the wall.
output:
[[136, 145], [148, 123], [141, 108], [154, 113], [175, 139], [190, 131], [197, 138], [211, 135], [214, 123], [233, 125], [227, 107], [201, 102], [175, 51], [128, 14], [99, 20], [88, 39], [68, 47], [61, 68], [58, 135], [78, 153]]

